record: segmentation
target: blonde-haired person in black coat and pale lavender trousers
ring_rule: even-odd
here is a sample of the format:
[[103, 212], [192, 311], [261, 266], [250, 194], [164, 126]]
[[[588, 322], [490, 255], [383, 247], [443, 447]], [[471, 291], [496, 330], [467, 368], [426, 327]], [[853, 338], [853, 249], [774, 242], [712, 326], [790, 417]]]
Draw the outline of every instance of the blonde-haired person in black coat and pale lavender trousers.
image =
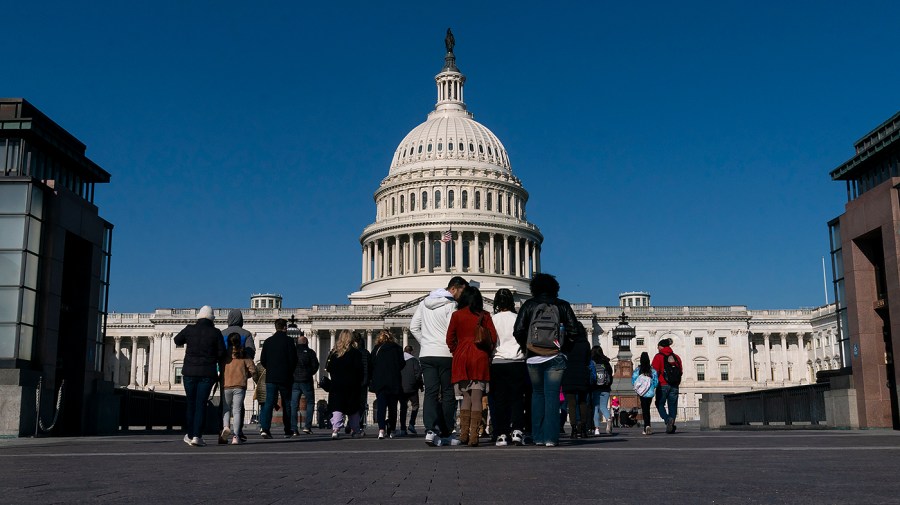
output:
[[340, 437], [345, 414], [355, 436], [359, 432], [359, 397], [364, 391], [364, 374], [362, 354], [353, 346], [353, 334], [349, 330], [341, 331], [325, 363], [325, 370], [331, 376], [328, 392], [328, 410], [332, 412], [331, 438]]

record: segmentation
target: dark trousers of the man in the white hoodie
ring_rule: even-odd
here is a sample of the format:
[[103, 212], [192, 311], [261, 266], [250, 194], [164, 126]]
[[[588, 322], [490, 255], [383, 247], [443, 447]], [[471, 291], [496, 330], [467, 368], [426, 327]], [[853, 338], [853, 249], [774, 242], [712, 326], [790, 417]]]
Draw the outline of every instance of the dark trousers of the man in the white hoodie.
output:
[[449, 437], [456, 426], [456, 395], [450, 383], [453, 358], [426, 356], [419, 358], [422, 379], [425, 381], [425, 398], [422, 417], [426, 430], [437, 430], [442, 437]]

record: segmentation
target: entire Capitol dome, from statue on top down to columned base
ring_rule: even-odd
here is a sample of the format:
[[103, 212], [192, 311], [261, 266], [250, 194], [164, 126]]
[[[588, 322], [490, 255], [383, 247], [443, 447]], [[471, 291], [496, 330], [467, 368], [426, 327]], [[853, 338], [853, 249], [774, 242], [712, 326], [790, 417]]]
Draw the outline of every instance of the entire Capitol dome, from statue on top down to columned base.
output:
[[445, 43], [434, 110], [397, 146], [375, 191], [352, 304], [413, 301], [455, 275], [485, 296], [524, 296], [540, 271], [543, 235], [525, 218], [528, 192], [500, 139], [466, 109], [449, 30]]

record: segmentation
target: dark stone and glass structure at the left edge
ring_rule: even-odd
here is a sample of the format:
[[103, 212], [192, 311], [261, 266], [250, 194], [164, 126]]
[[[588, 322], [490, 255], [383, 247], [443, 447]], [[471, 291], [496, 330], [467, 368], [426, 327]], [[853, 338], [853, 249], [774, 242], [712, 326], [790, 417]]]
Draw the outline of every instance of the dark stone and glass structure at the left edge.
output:
[[94, 205], [109, 179], [28, 101], [0, 98], [0, 436], [54, 419], [57, 435], [110, 430], [101, 371], [113, 227]]

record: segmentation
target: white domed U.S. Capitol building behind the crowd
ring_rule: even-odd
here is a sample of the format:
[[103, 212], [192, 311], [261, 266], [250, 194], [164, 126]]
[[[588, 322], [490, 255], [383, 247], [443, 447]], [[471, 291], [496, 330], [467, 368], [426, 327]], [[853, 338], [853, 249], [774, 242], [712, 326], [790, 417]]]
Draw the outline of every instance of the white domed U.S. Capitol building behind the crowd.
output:
[[[241, 310], [257, 348], [274, 332], [276, 318], [293, 317], [320, 357], [344, 329], [361, 332], [371, 349], [373, 336], [388, 328], [417, 352], [409, 332], [416, 305], [453, 275], [477, 281], [486, 302], [502, 287], [519, 300], [528, 297], [530, 278], [541, 271], [543, 235], [526, 219], [529, 194], [503, 144], [466, 108], [466, 77], [456, 66], [450, 36], [435, 81], [434, 110], [397, 146], [375, 191], [375, 222], [360, 237], [360, 265], [347, 265], [360, 269], [359, 290], [347, 305], [308, 308], [284, 308], [277, 294], [251, 296], [249, 308]], [[573, 308], [592, 343], [614, 362], [611, 330], [622, 312], [636, 330], [635, 359], [642, 351], [652, 356], [660, 339], [671, 338], [685, 364], [679, 401], [684, 418], [697, 416], [702, 393], [808, 384], [817, 371], [841, 367], [833, 305], [657, 307], [646, 292], [623, 293], [619, 300], [618, 306]], [[217, 327], [227, 326], [228, 311], [215, 310]], [[196, 308], [109, 314], [105, 378], [119, 387], [183, 391], [184, 349], [172, 338], [196, 319]], [[252, 408], [252, 394], [247, 398]]]

